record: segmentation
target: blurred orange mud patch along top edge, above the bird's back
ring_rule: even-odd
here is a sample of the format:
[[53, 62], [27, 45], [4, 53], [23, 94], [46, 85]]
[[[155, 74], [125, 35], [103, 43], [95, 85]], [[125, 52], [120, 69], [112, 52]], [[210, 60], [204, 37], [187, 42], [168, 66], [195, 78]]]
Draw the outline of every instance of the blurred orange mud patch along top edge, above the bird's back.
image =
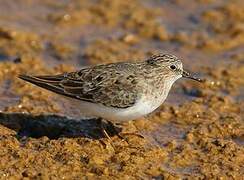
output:
[[77, 1], [66, 8], [58, 8], [47, 19], [61, 27], [70, 28], [81, 25], [99, 25], [103, 28], [121, 28], [133, 31], [144, 38], [168, 40], [169, 34], [157, 19], [163, 14], [158, 7], [150, 8], [138, 0]]

